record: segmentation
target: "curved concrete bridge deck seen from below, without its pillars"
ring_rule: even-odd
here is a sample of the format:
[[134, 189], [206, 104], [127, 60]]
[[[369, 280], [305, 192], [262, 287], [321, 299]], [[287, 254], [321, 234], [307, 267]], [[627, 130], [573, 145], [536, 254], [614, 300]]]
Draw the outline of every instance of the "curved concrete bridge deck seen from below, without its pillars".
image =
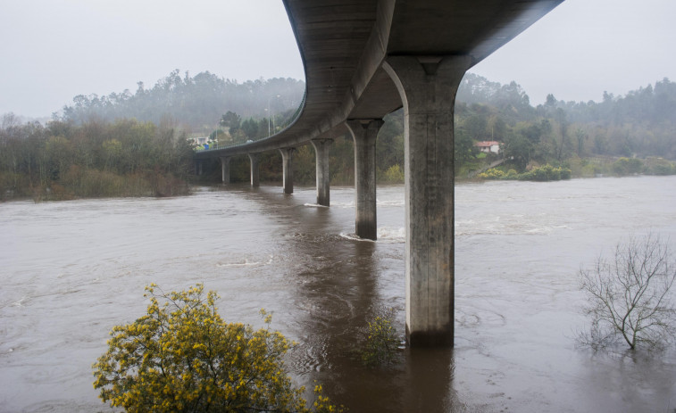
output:
[[295, 123], [251, 144], [197, 159], [304, 145], [346, 119], [381, 119], [401, 107], [382, 70], [394, 55], [455, 55], [480, 62], [563, 0], [283, 0], [305, 66]]

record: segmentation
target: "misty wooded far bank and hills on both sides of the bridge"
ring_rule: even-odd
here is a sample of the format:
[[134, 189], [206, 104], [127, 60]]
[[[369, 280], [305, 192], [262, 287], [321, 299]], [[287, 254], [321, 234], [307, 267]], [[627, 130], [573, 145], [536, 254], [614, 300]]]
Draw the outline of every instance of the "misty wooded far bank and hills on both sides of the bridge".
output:
[[[174, 70], [135, 94], [78, 95], [53, 120], [23, 123], [12, 113], [0, 125], [2, 199], [76, 196], [171, 195], [188, 183], [218, 182], [218, 161], [194, 175], [192, 138], [212, 144], [257, 139], [283, 128], [296, 113], [305, 83], [291, 78], [239, 84], [209, 72], [190, 77]], [[404, 177], [404, 119], [389, 114], [378, 137], [380, 183]], [[500, 153], [480, 153], [497, 141]], [[664, 78], [627, 95], [604, 94], [600, 103], [558, 101], [533, 106], [522, 87], [468, 73], [455, 103], [456, 178], [569, 178], [599, 174], [673, 174], [676, 166], [676, 83]], [[497, 168], [488, 165], [502, 162]], [[248, 179], [246, 156], [230, 163], [231, 179]], [[314, 182], [310, 145], [297, 148], [298, 184]], [[354, 182], [348, 136], [331, 149], [334, 185]], [[279, 181], [279, 153], [265, 153], [261, 178]]]

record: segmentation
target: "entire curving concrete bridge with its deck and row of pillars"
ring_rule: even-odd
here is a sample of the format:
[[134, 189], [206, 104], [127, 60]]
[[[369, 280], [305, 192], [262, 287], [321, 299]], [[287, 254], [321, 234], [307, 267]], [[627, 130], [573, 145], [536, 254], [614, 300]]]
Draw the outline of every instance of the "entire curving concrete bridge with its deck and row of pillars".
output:
[[[317, 203], [330, 204], [330, 142], [355, 143], [355, 233], [375, 239], [375, 145], [382, 118], [405, 113], [405, 302], [412, 346], [453, 345], [454, 105], [466, 70], [563, 0], [283, 0], [305, 66], [296, 120], [268, 138], [196, 153], [258, 156], [280, 151], [283, 189], [293, 193], [293, 153], [312, 144]], [[533, 51], [537, 53], [537, 51]]]

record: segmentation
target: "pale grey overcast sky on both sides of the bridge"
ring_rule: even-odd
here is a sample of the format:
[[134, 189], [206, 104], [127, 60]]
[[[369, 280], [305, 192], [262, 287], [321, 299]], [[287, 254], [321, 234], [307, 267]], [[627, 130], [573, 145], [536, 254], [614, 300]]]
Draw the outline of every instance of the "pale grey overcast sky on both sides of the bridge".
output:
[[[600, 101], [676, 80], [676, 0], [566, 0], [471, 71]], [[0, 114], [49, 116], [75, 95], [171, 70], [240, 82], [304, 78], [281, 0], [0, 0]]]

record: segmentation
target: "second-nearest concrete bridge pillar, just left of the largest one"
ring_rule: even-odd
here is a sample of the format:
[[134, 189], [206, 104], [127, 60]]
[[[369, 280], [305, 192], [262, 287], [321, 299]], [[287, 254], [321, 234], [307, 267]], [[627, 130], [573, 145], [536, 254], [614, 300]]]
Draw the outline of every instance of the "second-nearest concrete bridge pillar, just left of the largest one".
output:
[[355, 234], [376, 240], [376, 137], [383, 120], [347, 120], [355, 141]]

